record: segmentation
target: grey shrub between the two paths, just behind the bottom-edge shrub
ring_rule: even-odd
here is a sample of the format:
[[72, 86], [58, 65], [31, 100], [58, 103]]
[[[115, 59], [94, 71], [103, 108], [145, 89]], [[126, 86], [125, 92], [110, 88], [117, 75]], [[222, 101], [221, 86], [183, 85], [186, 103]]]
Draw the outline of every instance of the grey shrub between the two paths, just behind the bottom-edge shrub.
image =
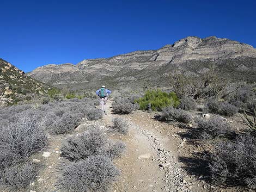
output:
[[61, 147], [62, 156], [78, 161], [89, 156], [102, 154], [106, 151], [107, 138], [105, 134], [96, 127], [89, 127], [86, 132], [77, 137], [64, 141]]

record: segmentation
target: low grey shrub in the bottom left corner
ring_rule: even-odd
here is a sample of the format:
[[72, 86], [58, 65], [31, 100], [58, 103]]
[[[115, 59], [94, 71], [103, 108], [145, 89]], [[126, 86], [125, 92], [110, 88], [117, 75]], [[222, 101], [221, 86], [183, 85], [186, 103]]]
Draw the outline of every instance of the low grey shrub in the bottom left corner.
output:
[[26, 188], [38, 174], [36, 167], [31, 163], [22, 163], [10, 166], [0, 171], [2, 184], [10, 190]]

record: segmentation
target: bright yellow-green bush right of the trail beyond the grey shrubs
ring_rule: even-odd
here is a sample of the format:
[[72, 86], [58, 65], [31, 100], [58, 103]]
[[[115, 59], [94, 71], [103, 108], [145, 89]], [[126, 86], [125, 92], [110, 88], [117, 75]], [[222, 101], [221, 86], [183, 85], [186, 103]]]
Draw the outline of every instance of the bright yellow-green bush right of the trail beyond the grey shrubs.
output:
[[175, 92], [163, 92], [161, 90], [148, 90], [145, 95], [137, 100], [139, 108], [142, 110], [161, 111], [164, 107], [177, 107], [180, 102]]

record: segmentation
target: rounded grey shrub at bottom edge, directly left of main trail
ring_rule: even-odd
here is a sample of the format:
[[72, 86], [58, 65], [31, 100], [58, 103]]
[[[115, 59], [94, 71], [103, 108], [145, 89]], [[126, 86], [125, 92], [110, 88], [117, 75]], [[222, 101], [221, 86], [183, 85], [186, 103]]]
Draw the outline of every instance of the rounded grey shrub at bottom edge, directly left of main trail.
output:
[[91, 156], [64, 166], [58, 187], [64, 191], [108, 191], [117, 179], [119, 170], [105, 156]]

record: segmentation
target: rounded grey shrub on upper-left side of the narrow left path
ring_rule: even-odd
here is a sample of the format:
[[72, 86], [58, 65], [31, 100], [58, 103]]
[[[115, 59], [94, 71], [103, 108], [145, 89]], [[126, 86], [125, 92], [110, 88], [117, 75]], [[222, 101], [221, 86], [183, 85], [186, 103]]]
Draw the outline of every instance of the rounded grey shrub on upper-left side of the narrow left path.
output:
[[79, 125], [82, 116], [81, 113], [72, 114], [70, 112], [65, 112], [52, 123], [50, 126], [51, 133], [64, 134], [72, 132]]

